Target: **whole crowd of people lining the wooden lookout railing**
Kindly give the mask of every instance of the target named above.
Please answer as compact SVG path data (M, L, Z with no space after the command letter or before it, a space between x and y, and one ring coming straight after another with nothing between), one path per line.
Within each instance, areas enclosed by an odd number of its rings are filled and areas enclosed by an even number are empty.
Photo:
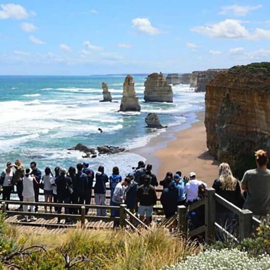
M216 193L235 204L239 208L249 209L257 218L264 218L270 214L270 170L267 168L268 155L263 150L255 153L257 168L244 173L242 184L233 176L228 163L219 165L219 176L213 183ZM193 202L204 197L206 183L196 178L195 172L190 172L189 177L182 177L181 171L174 174L166 173L165 178L158 182L152 173L152 165L138 162L134 170L121 177L118 167L113 167L112 174L105 173L104 166L99 166L98 171L89 168L88 162L77 164L75 167L55 167L54 173L49 167L45 168L44 175L37 168L36 162L30 163L30 168L24 168L22 161L14 164L7 162L6 169L0 175L2 199L10 200L10 194L16 187L20 201L38 202L39 189L44 189L45 202L64 204L90 204L92 189L96 205L106 204L106 184L110 189L110 205L120 206L122 203L147 225L150 224L153 215L153 206L157 203L156 187L163 187L160 197L166 218L174 216L177 206L189 206ZM242 189L241 189L242 187ZM244 192L242 192L244 190ZM8 204L6 205L8 210ZM78 214L80 209L64 208L65 214ZM22 211L22 206L19 207ZM27 206L24 206L24 212ZM30 211L38 211L38 206L31 207ZM45 207L45 212L48 209ZM50 207L49 212L61 213L62 207ZM86 208L86 214L88 209ZM97 216L106 216L106 209L97 209ZM111 216L119 216L119 211L111 210ZM189 213L192 228L204 224L204 206ZM216 204L216 220L233 231L235 215L227 208ZM26 220L27 216L26 216ZM35 220L32 216L30 220ZM60 222L60 218L58 218ZM71 222L66 219L65 222ZM114 226L118 226L117 221Z

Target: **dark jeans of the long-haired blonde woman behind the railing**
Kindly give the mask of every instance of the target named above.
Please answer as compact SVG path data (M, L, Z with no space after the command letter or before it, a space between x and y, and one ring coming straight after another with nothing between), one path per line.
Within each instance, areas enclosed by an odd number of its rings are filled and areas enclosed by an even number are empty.
M233 212L216 212L216 222L232 235L234 233L234 217ZM216 232L216 236L219 241L225 241L227 238L219 231Z

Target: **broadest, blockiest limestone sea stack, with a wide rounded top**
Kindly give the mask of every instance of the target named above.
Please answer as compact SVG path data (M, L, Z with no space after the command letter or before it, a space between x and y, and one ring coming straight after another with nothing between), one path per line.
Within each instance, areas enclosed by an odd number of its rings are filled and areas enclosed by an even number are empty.
M144 100L146 102L173 102L172 88L162 73L148 75L144 86Z

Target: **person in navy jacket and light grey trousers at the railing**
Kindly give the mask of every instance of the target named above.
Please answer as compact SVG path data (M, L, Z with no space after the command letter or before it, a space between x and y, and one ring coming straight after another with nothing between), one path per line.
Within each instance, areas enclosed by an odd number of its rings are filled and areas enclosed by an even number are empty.
M96 173L96 184L94 187L96 205L106 205L106 183L108 176L104 173L104 166L99 166ZM106 209L97 209L97 216L106 216Z

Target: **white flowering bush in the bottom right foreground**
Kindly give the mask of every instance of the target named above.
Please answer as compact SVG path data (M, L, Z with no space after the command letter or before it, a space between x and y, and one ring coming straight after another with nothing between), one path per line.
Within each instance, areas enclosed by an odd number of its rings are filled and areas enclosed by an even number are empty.
M270 270L269 254L257 258L238 249L206 250L189 256L185 262L166 266L163 270Z

